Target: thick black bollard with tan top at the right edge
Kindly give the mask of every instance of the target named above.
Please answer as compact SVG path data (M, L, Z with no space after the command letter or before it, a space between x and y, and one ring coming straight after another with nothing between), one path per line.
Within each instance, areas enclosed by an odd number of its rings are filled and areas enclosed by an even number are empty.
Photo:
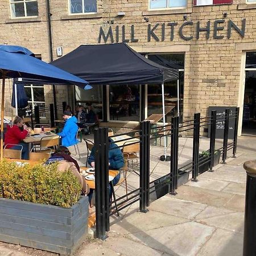
M243 256L256 255L256 161L243 164L247 173L245 196L245 225L243 232Z

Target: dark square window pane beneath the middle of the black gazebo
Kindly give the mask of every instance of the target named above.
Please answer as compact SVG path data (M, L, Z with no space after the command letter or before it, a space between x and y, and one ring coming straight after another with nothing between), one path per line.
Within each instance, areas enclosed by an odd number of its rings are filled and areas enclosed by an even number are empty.
M111 120L139 121L139 85L110 85Z

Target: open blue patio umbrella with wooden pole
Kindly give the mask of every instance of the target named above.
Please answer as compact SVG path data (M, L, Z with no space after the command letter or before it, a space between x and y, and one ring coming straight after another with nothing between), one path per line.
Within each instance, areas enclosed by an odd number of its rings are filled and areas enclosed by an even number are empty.
M49 84L71 84L84 89L92 88L88 82L73 76L62 69L36 59L27 48L20 46L0 45L0 79L2 79L1 104L1 143L0 154L3 159L3 113L5 108L5 79L26 77L30 79L43 79Z

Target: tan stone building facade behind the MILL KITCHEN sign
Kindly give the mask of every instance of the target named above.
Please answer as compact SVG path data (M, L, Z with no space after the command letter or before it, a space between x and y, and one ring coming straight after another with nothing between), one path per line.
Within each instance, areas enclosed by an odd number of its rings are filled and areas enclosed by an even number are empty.
M36 17L11 18L9 1L0 3L0 44L19 44L49 61L47 2L37 1ZM256 1L194 6L187 0L184 7L150 10L152 0L97 0L97 12L88 14L70 14L69 1L51 1L53 59L57 47L65 55L81 44L123 41L146 54L184 53L184 118L206 115L209 106L242 111L246 52L256 51ZM56 89L57 101L67 100L65 86ZM51 86L44 90L47 103L51 92Z

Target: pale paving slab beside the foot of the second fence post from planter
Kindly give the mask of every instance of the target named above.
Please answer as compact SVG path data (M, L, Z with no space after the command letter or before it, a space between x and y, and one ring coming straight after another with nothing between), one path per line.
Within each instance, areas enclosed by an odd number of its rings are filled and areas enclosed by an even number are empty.
M205 204L199 204L192 201L185 201L173 198L171 196L163 196L154 201L149 209L155 212L167 213L181 218L192 220L202 210L207 207Z

